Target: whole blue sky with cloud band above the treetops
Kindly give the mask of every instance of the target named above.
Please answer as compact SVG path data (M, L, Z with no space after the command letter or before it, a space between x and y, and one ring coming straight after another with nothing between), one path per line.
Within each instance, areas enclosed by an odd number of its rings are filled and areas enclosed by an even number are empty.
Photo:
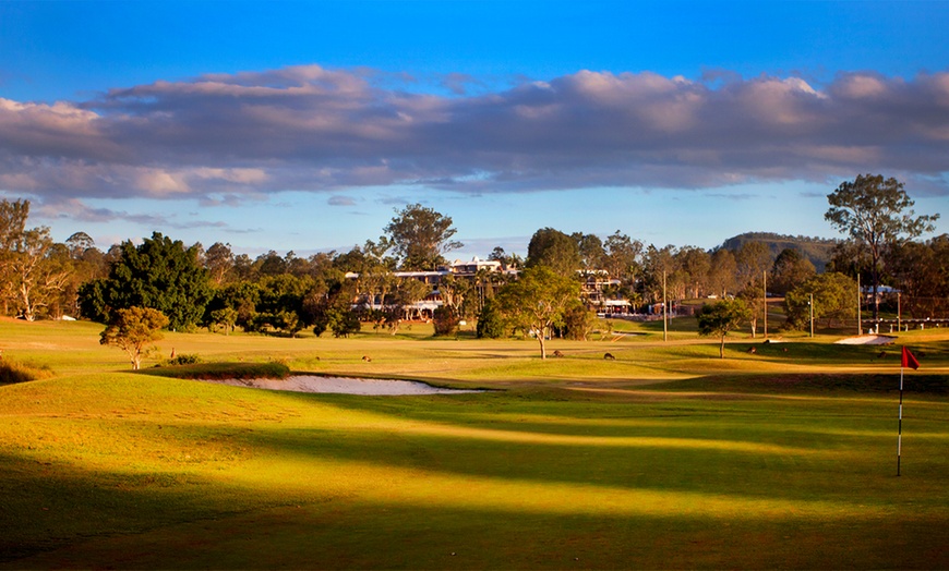
M949 215L946 29L937 0L0 0L0 198L103 250L345 252L410 204L449 258L839 238L861 173Z

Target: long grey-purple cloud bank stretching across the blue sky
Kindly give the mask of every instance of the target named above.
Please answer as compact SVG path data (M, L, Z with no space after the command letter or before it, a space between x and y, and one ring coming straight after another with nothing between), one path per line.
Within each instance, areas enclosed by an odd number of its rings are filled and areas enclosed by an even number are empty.
M389 184L459 193L713 189L882 172L949 195L949 73L692 81L580 71L467 95L305 65L116 88L52 105L0 98L0 190L56 204ZM86 212L88 215L88 212Z

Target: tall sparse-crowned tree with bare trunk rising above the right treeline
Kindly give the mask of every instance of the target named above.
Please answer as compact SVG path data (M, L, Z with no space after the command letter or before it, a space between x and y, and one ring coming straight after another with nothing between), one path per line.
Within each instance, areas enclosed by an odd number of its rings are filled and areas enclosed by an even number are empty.
M869 252L874 319L879 317L881 267L886 248L935 230L939 215L916 216L903 183L882 174L860 174L827 195L824 218Z

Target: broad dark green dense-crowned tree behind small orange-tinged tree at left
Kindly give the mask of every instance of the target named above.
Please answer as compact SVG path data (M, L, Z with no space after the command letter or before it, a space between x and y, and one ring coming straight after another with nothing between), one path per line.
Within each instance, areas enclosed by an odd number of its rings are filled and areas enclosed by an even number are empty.
M137 246L123 242L120 251L108 278L91 281L80 290L86 317L108 321L117 309L151 307L166 315L173 329L199 323L212 290L195 248L155 232Z

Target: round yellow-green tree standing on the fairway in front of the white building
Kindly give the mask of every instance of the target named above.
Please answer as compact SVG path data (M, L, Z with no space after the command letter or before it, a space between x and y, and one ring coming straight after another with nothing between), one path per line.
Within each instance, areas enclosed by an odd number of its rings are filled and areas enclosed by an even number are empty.
M580 294L580 284L546 266L527 268L497 292L495 303L508 323L536 336L546 359L546 335L563 325L564 313Z

